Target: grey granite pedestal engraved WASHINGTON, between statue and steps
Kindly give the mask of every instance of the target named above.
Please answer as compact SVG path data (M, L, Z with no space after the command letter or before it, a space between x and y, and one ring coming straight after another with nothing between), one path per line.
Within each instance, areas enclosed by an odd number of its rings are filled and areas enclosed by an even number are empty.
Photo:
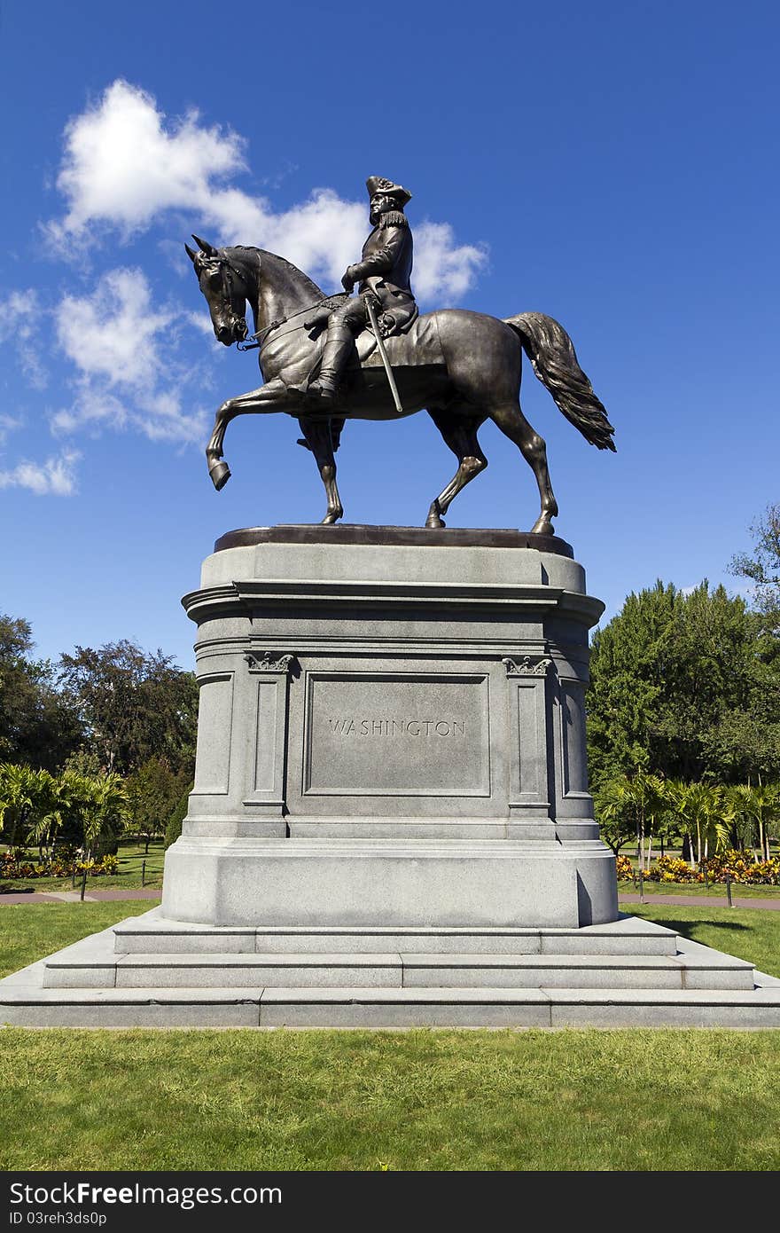
M217 543L184 604L201 700L169 920L616 919L585 764L604 605L563 540L249 529Z

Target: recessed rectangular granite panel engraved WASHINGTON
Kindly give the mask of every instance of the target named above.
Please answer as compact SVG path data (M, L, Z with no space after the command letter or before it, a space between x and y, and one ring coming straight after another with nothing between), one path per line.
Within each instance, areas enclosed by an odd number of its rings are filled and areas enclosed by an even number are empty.
M303 793L489 797L487 676L311 673Z

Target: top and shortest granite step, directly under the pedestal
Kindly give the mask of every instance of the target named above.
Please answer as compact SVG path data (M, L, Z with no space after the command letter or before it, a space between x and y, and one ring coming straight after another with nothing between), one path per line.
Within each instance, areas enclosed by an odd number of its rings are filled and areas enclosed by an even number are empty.
M168 921L160 909L115 926L117 954L676 954L676 933L624 917L584 928L219 927Z

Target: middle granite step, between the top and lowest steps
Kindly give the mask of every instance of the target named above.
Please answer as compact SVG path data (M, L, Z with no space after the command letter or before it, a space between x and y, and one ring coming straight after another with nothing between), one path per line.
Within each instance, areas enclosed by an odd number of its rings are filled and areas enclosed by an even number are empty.
M701 947L615 954L112 954L75 946L46 961L48 989L79 988L600 988L744 989L753 968Z

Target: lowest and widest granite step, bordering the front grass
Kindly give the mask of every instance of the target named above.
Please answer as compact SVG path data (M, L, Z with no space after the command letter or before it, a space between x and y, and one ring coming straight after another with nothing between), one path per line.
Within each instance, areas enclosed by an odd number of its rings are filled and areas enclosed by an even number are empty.
M39 967L39 965L33 965ZM21 1027L780 1028L780 981L697 989L42 989L0 981ZM27 977L28 983L20 983ZM16 980L16 984L12 981Z

